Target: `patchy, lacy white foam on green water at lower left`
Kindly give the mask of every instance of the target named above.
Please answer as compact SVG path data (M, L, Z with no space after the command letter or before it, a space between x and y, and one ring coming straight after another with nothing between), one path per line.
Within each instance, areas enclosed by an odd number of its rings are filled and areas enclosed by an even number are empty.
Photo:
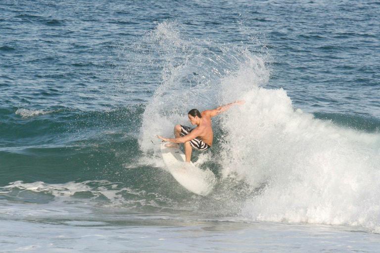
M161 202L176 207L177 203L155 192L135 190L122 183L107 180L84 182L67 182L62 184L48 184L45 182L24 183L15 181L7 186L0 187L0 195L21 202L13 203L0 208L1 215L10 216L50 216L71 215L88 212L87 208L75 208L74 205L103 206L117 208L140 208L144 206L160 207ZM31 198L30 198L31 196ZM48 196L51 196L47 198ZM153 198L154 197L154 198ZM46 202L44 208L30 208L26 202ZM65 208L61 208L62 204ZM73 205L67 205L73 204ZM59 206L58 208L56 206Z

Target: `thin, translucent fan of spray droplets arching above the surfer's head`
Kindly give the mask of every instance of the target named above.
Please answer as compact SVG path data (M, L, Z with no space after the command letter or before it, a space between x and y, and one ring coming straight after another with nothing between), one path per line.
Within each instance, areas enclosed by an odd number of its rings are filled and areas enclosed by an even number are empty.
M269 79L263 55L254 55L236 45L186 40L173 22L160 23L145 40L165 60L161 62L162 83L143 113L139 144L144 152L158 152L151 145L156 135L172 136L176 124L189 125L187 112L190 109L212 109L221 105L220 82L239 66L246 62L259 65L265 69L265 74L259 77L262 83Z

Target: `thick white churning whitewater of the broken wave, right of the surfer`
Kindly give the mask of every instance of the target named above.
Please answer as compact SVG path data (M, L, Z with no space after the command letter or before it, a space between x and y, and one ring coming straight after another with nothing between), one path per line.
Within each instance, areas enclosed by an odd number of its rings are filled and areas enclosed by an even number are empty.
M222 81L222 98L232 94L246 100L222 115L227 131L223 174L252 186L268 184L263 194L249 198L243 214L254 220L379 230L380 135L294 110L284 90L249 89L244 80L252 75L238 73Z

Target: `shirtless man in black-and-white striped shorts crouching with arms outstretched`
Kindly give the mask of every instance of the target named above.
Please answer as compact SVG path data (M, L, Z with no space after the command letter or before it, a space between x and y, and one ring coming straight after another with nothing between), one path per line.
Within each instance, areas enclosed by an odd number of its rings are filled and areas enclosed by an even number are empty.
M234 104L243 104L245 101L235 101L213 110L204 110L199 112L197 109L191 109L188 113L191 125L196 125L194 129L188 126L176 125L174 127L174 135L176 138L164 138L157 135L158 138L165 142L172 142L174 144L167 144L169 147L178 147L178 143L185 144L186 162L190 162L192 149L198 151L206 151L212 146L214 133L212 132L211 118L228 110Z

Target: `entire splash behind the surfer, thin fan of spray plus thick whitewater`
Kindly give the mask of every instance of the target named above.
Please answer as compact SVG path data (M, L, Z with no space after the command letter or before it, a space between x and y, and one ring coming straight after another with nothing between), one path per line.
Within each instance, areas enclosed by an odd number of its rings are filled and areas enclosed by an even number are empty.
M266 88L268 54L187 41L175 27L162 23L151 33L166 62L163 82L143 113L142 151L159 155L151 140L171 136L175 124L189 125L191 108L244 99L216 119L212 155L199 155L216 164L222 185L233 180L228 187L240 186L240 193L231 193L243 194L243 217L380 229L377 127L363 131L303 112L285 90Z

